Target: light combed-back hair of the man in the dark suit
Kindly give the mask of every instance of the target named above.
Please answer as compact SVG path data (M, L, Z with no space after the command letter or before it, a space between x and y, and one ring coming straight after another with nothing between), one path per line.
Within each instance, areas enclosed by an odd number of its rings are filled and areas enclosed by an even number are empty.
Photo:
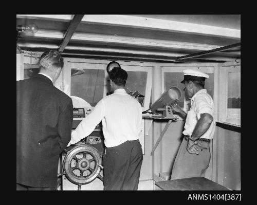
M63 58L57 50L45 51L38 62L39 69L53 70L63 67Z

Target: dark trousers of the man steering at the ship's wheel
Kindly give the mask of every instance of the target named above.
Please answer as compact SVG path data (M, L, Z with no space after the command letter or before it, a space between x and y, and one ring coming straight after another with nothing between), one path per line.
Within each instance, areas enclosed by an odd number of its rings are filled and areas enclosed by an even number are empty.
M103 155L104 190L137 190L142 161L139 140L106 148Z

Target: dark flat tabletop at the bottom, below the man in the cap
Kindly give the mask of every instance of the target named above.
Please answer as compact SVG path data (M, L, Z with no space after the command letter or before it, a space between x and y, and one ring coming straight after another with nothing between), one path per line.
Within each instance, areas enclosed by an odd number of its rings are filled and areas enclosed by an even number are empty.
M229 190L228 188L223 187L222 185L215 183L205 177L192 177L169 181L159 181L155 182L155 184L161 190Z

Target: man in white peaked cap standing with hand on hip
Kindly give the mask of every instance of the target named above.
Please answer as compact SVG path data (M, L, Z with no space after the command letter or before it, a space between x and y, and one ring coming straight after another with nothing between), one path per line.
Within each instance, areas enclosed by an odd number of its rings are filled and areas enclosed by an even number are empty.
M208 74L199 70L183 70L191 107L188 113L178 105L172 105L175 113L186 120L184 138L173 164L171 180L204 176L210 163L210 140L214 135L214 104L204 88Z

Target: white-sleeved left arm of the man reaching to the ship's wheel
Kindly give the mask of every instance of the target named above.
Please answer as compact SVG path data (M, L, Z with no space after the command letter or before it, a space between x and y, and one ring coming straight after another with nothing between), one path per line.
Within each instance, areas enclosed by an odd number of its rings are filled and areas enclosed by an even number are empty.
M90 135L95 127L101 122L104 115L104 105L103 101L99 101L93 111L82 120L74 132L71 133L71 140L68 144L75 144L81 139Z

